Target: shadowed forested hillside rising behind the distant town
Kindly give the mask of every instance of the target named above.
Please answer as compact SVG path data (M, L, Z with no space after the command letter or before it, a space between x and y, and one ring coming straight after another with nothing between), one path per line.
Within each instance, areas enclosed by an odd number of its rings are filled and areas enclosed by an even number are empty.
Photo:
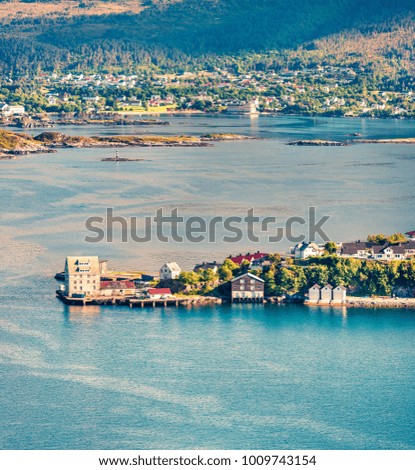
M402 44L389 47L390 31L405 24L412 36L402 38L403 46L413 44L414 22L407 19L413 11L410 0L3 1L0 66L25 72L186 65L298 47L293 57L301 60L304 50L311 60L337 50L359 60L366 44L375 60L376 54L399 60ZM365 43L374 35L376 47ZM405 54L410 61L412 52Z

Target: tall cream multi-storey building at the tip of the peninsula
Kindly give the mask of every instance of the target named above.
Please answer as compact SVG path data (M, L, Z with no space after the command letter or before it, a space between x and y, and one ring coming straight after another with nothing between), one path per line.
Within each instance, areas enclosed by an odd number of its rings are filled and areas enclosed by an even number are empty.
M96 295L101 273L98 256L68 256L65 262L65 294L68 297Z

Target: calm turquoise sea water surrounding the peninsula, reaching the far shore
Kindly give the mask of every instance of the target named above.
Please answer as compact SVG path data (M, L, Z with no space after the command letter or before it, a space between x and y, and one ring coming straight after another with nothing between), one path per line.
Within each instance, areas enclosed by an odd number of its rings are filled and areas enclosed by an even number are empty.
M330 213L332 238L415 223L412 146L288 147L299 138L413 136L413 124L175 117L147 133L240 132L212 148L65 150L0 162L0 448L407 449L415 445L415 313L234 305L67 307L53 279L67 254L115 267L190 269L252 246L88 245L85 218ZM140 129L141 130L141 129ZM70 128L72 134L132 129ZM126 164L127 165L127 164ZM276 249L284 250L289 243ZM273 247L275 248L275 247Z

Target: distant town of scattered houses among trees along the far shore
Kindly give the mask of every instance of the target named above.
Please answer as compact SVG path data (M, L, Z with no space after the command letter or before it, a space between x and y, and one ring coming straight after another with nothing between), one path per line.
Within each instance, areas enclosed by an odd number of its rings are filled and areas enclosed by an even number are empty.
M415 94L411 89L370 88L365 83L363 66L334 65L241 73L219 67L180 73L39 73L3 78L0 103L1 124L22 127L33 127L27 118L39 118L43 113L415 116Z

